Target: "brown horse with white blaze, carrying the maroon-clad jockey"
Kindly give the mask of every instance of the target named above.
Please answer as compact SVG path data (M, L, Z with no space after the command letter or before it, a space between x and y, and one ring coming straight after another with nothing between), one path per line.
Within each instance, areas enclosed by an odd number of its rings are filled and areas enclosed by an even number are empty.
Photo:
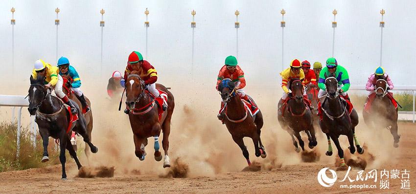
M144 81L140 78L138 72L132 71L126 80L126 105L130 110L129 119L133 130L133 139L136 146L136 156L139 160L144 160L146 152L144 147L147 145L147 138L155 139L155 160L161 161L162 154L159 151L159 135L163 131L162 147L164 151L163 168L170 167L168 156L170 120L172 118L175 101L173 95L167 88L161 84L156 84L156 88L167 94L167 110L163 111L159 119L158 111L162 111L155 101L155 97L145 89Z

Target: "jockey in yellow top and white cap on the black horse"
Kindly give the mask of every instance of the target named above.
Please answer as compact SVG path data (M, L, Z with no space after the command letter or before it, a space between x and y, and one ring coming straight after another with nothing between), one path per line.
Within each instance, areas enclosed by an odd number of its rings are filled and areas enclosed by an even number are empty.
M58 67L52 66L39 59L35 62L34 68L32 70L33 79L36 79L38 75L45 77L45 81L47 83L45 86L47 88L54 89L55 94L71 108L71 112L74 114L71 122L78 120L77 110L75 106L71 103L68 96L65 95L65 93L62 91L64 80L62 79L61 75L59 75Z

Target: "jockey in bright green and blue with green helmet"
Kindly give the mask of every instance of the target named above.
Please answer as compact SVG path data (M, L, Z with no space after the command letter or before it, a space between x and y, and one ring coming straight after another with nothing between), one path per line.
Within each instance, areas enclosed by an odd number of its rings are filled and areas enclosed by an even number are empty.
M325 76L329 76L329 74L331 73L335 74L335 78L338 81L338 88L340 89L341 96L343 96L344 99L347 99L349 101L347 91L349 89L350 84L347 69L345 69L341 65L338 65L337 60L333 57L328 58L326 60L326 67L324 67L321 73L319 74L318 86L320 90L318 93L318 98L321 98L322 96L326 95Z

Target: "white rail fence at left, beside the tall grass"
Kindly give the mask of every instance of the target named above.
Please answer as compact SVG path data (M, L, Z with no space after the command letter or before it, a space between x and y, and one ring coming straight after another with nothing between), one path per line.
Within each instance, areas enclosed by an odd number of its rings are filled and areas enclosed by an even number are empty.
M15 122L15 108L18 109L17 115L17 146L16 146L16 156L19 157L20 152L20 137L22 132L22 108L29 107L29 101L24 99L25 96L14 96L14 95L0 95L0 107L13 107L12 121ZM35 116L30 117L31 120L31 140L33 147L36 147L36 134L37 134L37 125L35 123Z

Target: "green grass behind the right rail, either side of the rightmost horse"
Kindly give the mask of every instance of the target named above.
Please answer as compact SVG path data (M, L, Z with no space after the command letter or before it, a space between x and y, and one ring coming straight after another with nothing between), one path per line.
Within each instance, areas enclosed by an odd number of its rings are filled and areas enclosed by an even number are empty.
M399 107L399 111L413 111L413 93L412 92L402 92L394 93L394 99L403 107ZM354 105L354 108L363 109L364 103L366 102L367 95L351 94L351 102Z

